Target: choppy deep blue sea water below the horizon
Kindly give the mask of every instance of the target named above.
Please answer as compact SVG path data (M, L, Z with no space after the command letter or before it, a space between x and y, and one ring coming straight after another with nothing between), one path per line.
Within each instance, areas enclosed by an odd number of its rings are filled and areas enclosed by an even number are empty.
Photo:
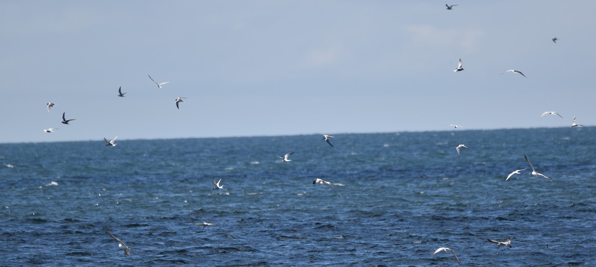
M0 144L0 265L596 266L596 128L334 136Z

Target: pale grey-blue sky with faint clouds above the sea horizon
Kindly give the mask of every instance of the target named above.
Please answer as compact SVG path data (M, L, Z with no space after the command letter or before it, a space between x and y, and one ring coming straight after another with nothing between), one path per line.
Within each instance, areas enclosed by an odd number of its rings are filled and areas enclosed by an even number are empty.
M445 4L0 1L0 142L596 125L596 1Z

